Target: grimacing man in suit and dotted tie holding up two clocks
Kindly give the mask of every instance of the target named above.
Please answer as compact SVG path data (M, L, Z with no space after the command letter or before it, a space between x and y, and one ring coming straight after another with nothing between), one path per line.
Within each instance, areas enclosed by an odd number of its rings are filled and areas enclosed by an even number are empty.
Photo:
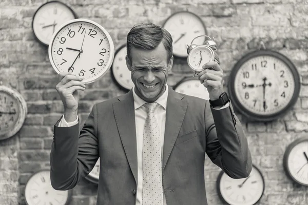
M126 56L134 87L95 104L80 132L78 92L85 85L79 76L61 73L56 90L65 112L54 126L54 189L74 188L99 157L100 205L207 204L205 154L228 176L248 177L251 153L223 94L219 64L208 62L199 73L210 97L204 100L166 84L172 63L172 38L165 29L151 23L134 26L127 35Z

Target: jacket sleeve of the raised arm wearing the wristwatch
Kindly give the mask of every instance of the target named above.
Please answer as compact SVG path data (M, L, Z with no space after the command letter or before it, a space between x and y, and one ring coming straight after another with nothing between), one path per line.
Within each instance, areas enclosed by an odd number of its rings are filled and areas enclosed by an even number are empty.
M252 156L232 104L216 110L205 104L206 154L231 178L248 177Z

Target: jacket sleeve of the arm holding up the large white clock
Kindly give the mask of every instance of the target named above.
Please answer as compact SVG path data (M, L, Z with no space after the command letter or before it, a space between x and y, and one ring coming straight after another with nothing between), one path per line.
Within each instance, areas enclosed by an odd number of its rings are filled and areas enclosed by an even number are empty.
M97 105L80 132L79 122L71 127L57 124L50 153L50 181L55 190L69 190L90 173L99 158Z

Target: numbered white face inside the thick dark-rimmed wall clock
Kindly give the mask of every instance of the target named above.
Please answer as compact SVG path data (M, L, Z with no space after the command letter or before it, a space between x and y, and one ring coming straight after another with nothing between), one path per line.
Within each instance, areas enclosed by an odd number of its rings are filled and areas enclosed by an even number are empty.
M235 76L235 94L242 106L256 114L281 111L290 102L295 81L279 58L269 55L247 60Z

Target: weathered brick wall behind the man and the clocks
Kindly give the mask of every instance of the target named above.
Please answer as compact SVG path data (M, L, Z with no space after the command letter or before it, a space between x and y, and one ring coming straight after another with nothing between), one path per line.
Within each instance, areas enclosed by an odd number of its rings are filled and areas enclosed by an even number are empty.
M31 30L32 16L45 2L0 2L0 81L21 92L28 106L20 132L0 141L0 204L25 204L24 189L29 176L39 169L49 168L53 124L63 113L48 50L34 40ZM79 17L104 26L115 47L125 43L128 31L136 23L162 25L176 11L195 12L203 19L208 35L216 37L221 66L226 74L225 83L236 61L257 49L260 39L266 48L287 55L301 75L302 87L295 107L283 118L267 123L248 123L238 116L247 134L253 163L265 177L266 189L259 204L308 204L308 189L288 179L282 167L286 146L306 136L308 131L306 0L70 0L65 3ZM183 74L190 75L191 71L186 60L177 59L168 79L169 85L175 85ZM82 124L94 103L120 94L124 92L114 84L110 72L87 85L80 100ZM205 170L208 202L222 204L216 192L220 169L207 158ZM70 204L96 204L96 194L97 185L83 180L73 189Z

